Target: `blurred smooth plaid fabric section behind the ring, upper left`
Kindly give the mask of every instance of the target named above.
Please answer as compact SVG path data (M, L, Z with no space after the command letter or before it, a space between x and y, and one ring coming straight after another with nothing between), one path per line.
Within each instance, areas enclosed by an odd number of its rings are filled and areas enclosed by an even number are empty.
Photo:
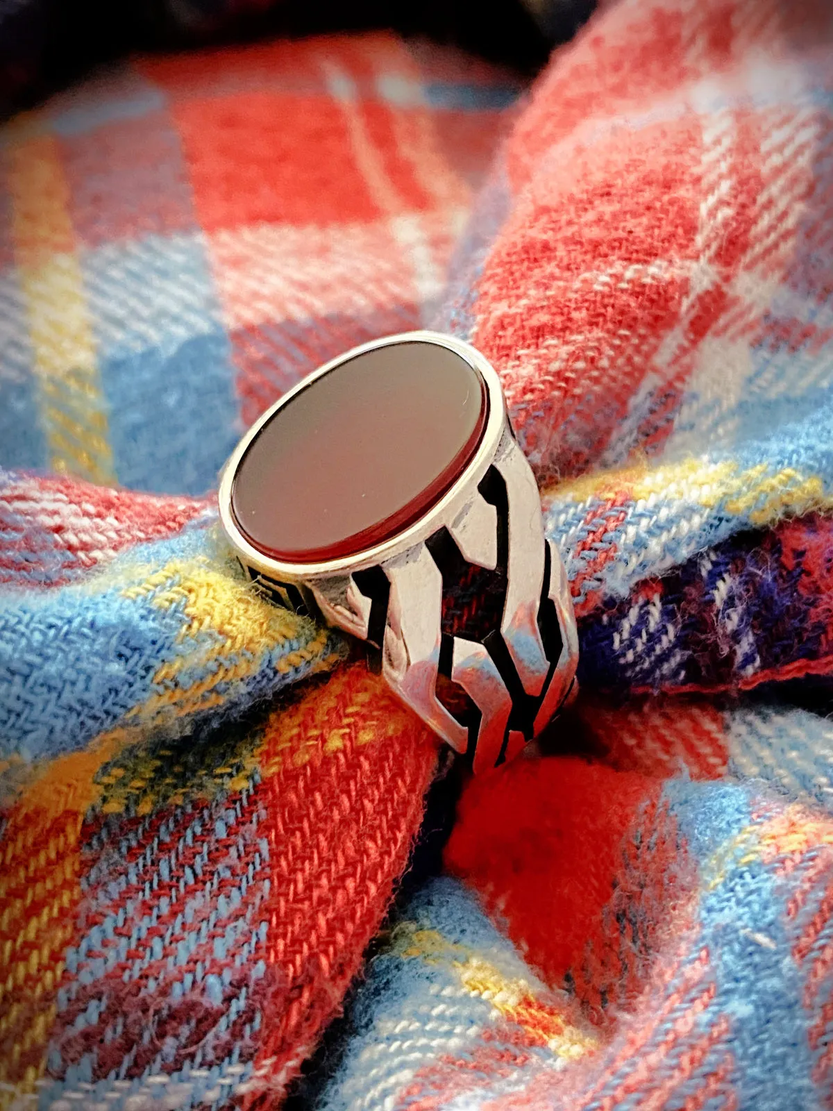
M20 117L0 463L210 490L291 384L425 322L520 90L379 32L145 56Z

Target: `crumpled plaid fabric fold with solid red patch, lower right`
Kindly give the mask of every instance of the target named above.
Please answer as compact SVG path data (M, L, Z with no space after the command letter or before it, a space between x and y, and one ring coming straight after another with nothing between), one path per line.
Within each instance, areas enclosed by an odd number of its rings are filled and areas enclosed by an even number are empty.
M594 763L519 760L468 791L458 879L371 963L322 1107L829 1105L829 722L680 702L582 721Z

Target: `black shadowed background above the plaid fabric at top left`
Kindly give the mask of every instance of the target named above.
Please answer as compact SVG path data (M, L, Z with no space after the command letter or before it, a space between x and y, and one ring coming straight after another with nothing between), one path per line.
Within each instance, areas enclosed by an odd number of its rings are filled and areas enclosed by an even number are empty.
M8 0L0 7L0 112L27 107L132 51L270 36L391 30L429 36L532 72L570 39L593 0Z

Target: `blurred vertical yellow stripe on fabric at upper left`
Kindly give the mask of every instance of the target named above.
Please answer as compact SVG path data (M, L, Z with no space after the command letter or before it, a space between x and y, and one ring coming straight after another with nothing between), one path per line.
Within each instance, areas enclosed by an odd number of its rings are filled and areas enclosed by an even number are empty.
M11 230L51 467L112 483L112 451L60 149L12 124Z

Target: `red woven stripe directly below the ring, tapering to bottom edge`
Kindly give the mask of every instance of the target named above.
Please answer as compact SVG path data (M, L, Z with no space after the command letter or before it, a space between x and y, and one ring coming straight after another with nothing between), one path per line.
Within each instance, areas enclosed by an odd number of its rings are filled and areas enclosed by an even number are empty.
M259 762L268 974L280 990L242 1108L275 1101L339 1009L422 819L436 744L383 681L343 668L273 714ZM270 1104L271 1105L271 1104Z

